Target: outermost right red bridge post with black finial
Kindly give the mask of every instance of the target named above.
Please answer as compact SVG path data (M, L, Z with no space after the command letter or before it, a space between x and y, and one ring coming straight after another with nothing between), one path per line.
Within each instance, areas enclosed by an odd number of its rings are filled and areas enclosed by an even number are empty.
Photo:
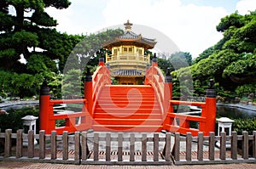
M205 116L207 122L205 124L204 135L209 135L209 132L215 132L215 121L216 121L216 91L214 89L214 82L211 79L209 82L209 88L207 89L206 98L206 111L201 114Z

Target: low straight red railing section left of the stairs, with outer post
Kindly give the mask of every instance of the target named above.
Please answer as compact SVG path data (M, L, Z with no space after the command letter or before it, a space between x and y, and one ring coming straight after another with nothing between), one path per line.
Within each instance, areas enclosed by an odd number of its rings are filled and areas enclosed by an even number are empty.
M61 114L55 114L55 104L83 104L83 108L80 112L68 113L65 110L60 110ZM88 129L89 125L86 123L86 117L89 115L87 112L86 99L50 100L49 87L44 85L41 88L39 99L39 125L40 129L45 130L45 133L49 134L51 131L55 130L58 134L61 134L63 131L76 132L78 130ZM55 124L57 120L64 120L64 126L56 127Z

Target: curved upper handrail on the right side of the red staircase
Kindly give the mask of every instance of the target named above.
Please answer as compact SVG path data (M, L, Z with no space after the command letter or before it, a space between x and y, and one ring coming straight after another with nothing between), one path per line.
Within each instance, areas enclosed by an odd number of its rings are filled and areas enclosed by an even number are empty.
M154 91L159 101L162 115L164 115L165 113L164 82L165 82L165 77L163 76L160 68L158 68L157 66L151 66L146 71L145 84L150 84L152 87L154 87Z

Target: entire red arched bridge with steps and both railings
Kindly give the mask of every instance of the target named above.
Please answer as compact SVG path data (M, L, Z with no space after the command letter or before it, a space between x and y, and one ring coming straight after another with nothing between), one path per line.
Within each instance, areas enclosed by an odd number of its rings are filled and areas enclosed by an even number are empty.
M215 91L207 89L206 102L172 100L172 76L163 76L157 63L146 71L144 85L112 85L110 72L100 61L93 75L87 73L84 99L50 100L49 87L40 92L40 130L76 132L93 129L108 132L191 132L208 135L215 130ZM80 112L55 114L55 104L83 104ZM174 105L201 107L201 115L175 113ZM65 111L64 111L65 112ZM64 127L55 127L55 121L65 119ZM78 121L79 119L79 121ZM190 127L190 121L198 123Z

